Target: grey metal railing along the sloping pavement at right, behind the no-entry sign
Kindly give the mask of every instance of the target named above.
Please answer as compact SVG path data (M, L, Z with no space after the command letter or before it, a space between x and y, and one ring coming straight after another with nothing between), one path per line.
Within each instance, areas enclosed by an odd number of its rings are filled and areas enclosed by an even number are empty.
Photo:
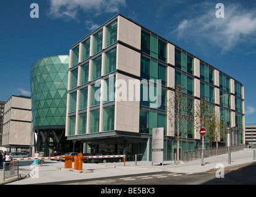
M238 145L234 147L229 147L231 152L243 150L245 145ZM205 148L203 151L203 156L205 158L209 156L216 156L228 153L228 147L218 147L218 148ZM186 150L183 151L183 161L192 161L195 159L200 159L202 157L202 149L199 150Z

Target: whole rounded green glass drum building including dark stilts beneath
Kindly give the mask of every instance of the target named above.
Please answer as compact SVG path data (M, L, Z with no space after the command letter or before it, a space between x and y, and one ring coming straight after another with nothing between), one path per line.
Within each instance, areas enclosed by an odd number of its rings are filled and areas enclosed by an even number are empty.
M68 70L68 55L41 58L31 68L35 149L46 156L73 147L65 137Z

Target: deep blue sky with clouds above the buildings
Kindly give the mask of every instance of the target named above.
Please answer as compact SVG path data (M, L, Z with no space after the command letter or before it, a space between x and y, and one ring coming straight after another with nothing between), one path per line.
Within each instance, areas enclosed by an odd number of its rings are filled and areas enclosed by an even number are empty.
M39 6L31 18L30 5ZM216 18L217 3L224 18ZM191 0L0 0L0 100L30 95L36 60L69 49L120 13L215 66L245 87L245 123L256 124L256 2Z

